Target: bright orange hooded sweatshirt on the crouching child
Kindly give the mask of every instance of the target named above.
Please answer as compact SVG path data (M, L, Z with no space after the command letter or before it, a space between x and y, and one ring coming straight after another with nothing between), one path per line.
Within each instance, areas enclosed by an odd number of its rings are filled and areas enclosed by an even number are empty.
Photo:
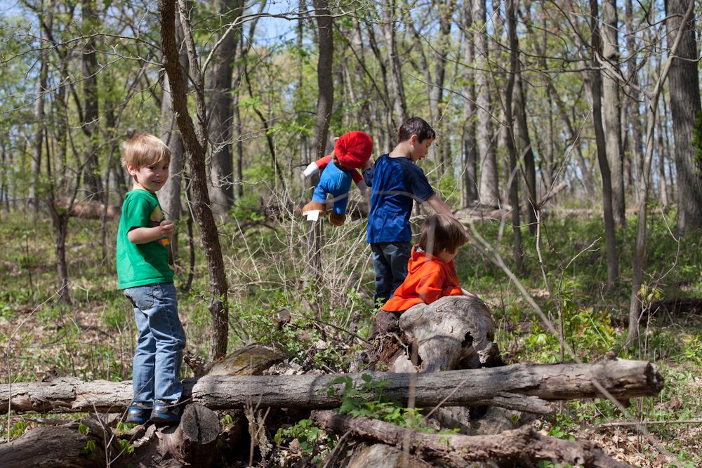
M419 246L412 247L407 272L407 277L390 300L380 307L381 310L404 312L421 302L431 304L439 297L463 294L461 286L458 286L458 274L453 260L446 263L421 250Z

